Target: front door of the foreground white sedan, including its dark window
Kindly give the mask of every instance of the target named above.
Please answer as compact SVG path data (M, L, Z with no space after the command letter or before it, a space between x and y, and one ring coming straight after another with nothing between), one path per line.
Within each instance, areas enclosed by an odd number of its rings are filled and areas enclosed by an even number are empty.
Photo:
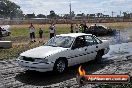
M69 53L70 64L76 65L85 62L85 40L84 36L79 36L75 39Z

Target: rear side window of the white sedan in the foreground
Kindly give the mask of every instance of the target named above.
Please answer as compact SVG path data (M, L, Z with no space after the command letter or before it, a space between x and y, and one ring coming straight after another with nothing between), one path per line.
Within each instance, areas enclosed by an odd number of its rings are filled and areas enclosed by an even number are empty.
M85 36L85 46L97 45L98 42L92 36Z

